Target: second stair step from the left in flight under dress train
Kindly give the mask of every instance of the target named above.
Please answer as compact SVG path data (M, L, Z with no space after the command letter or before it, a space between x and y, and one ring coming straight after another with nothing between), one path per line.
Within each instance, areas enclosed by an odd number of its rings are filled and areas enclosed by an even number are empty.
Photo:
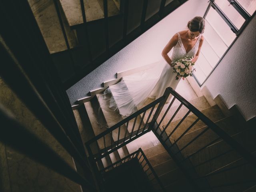
M90 119L90 123L95 136L104 132L105 130L108 130L108 127L106 126L106 120L104 119L102 111L100 110L97 98L92 98L89 102L84 103L84 106L86 108L86 112ZM104 138L100 138L99 140L97 140L99 148L103 149L105 148L105 146L110 146L111 139L112 138L110 134L108 134L105 136L105 144Z

